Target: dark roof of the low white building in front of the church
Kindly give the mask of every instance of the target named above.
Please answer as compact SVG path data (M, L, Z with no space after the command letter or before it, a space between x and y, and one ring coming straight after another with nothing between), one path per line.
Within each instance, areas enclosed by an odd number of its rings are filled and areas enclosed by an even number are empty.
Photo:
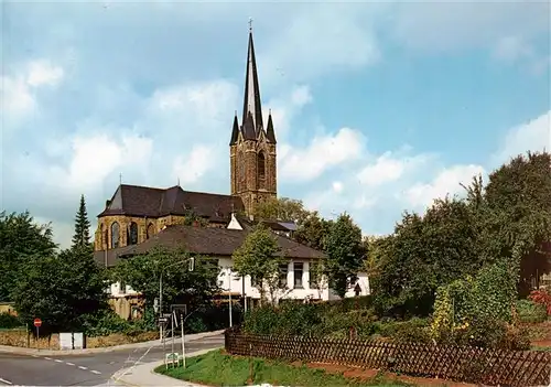
M114 266L120 258L148 252L156 246L165 248L184 247L192 254L206 256L231 256L235 249L242 245L250 230L227 229L215 227L169 226L150 239L132 246L119 247L107 251L107 266ZM290 238L273 234L281 248L281 254L289 258L316 259L323 258L322 251ZM94 258L99 265L105 265L106 252L96 251Z

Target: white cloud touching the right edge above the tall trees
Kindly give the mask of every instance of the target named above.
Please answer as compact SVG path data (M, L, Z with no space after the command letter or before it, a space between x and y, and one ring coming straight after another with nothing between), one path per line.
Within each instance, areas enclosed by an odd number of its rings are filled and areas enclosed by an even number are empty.
M494 154L495 164L528 151L551 150L551 110L521 126L509 129L499 150Z

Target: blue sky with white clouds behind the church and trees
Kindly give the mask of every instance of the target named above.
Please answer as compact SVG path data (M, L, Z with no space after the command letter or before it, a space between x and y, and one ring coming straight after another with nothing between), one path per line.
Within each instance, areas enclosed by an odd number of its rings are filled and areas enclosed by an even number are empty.
M365 235L551 149L545 1L4 1L1 209L68 246L126 184L229 194L248 21L278 195ZM266 121L266 118L264 118Z

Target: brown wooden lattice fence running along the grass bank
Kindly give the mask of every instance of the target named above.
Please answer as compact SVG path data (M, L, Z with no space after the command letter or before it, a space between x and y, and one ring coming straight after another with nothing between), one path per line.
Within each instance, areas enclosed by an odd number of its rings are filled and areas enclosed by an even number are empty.
M364 340L250 335L227 330L234 355L333 363L490 386L548 386L551 354Z

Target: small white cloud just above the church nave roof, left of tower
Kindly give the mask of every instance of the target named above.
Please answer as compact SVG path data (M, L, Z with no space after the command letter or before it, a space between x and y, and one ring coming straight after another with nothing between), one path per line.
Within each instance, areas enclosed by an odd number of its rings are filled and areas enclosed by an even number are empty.
M214 152L207 146L194 146L190 155L184 159L176 157L172 173L182 184L193 184L205 176L205 173L216 166Z

